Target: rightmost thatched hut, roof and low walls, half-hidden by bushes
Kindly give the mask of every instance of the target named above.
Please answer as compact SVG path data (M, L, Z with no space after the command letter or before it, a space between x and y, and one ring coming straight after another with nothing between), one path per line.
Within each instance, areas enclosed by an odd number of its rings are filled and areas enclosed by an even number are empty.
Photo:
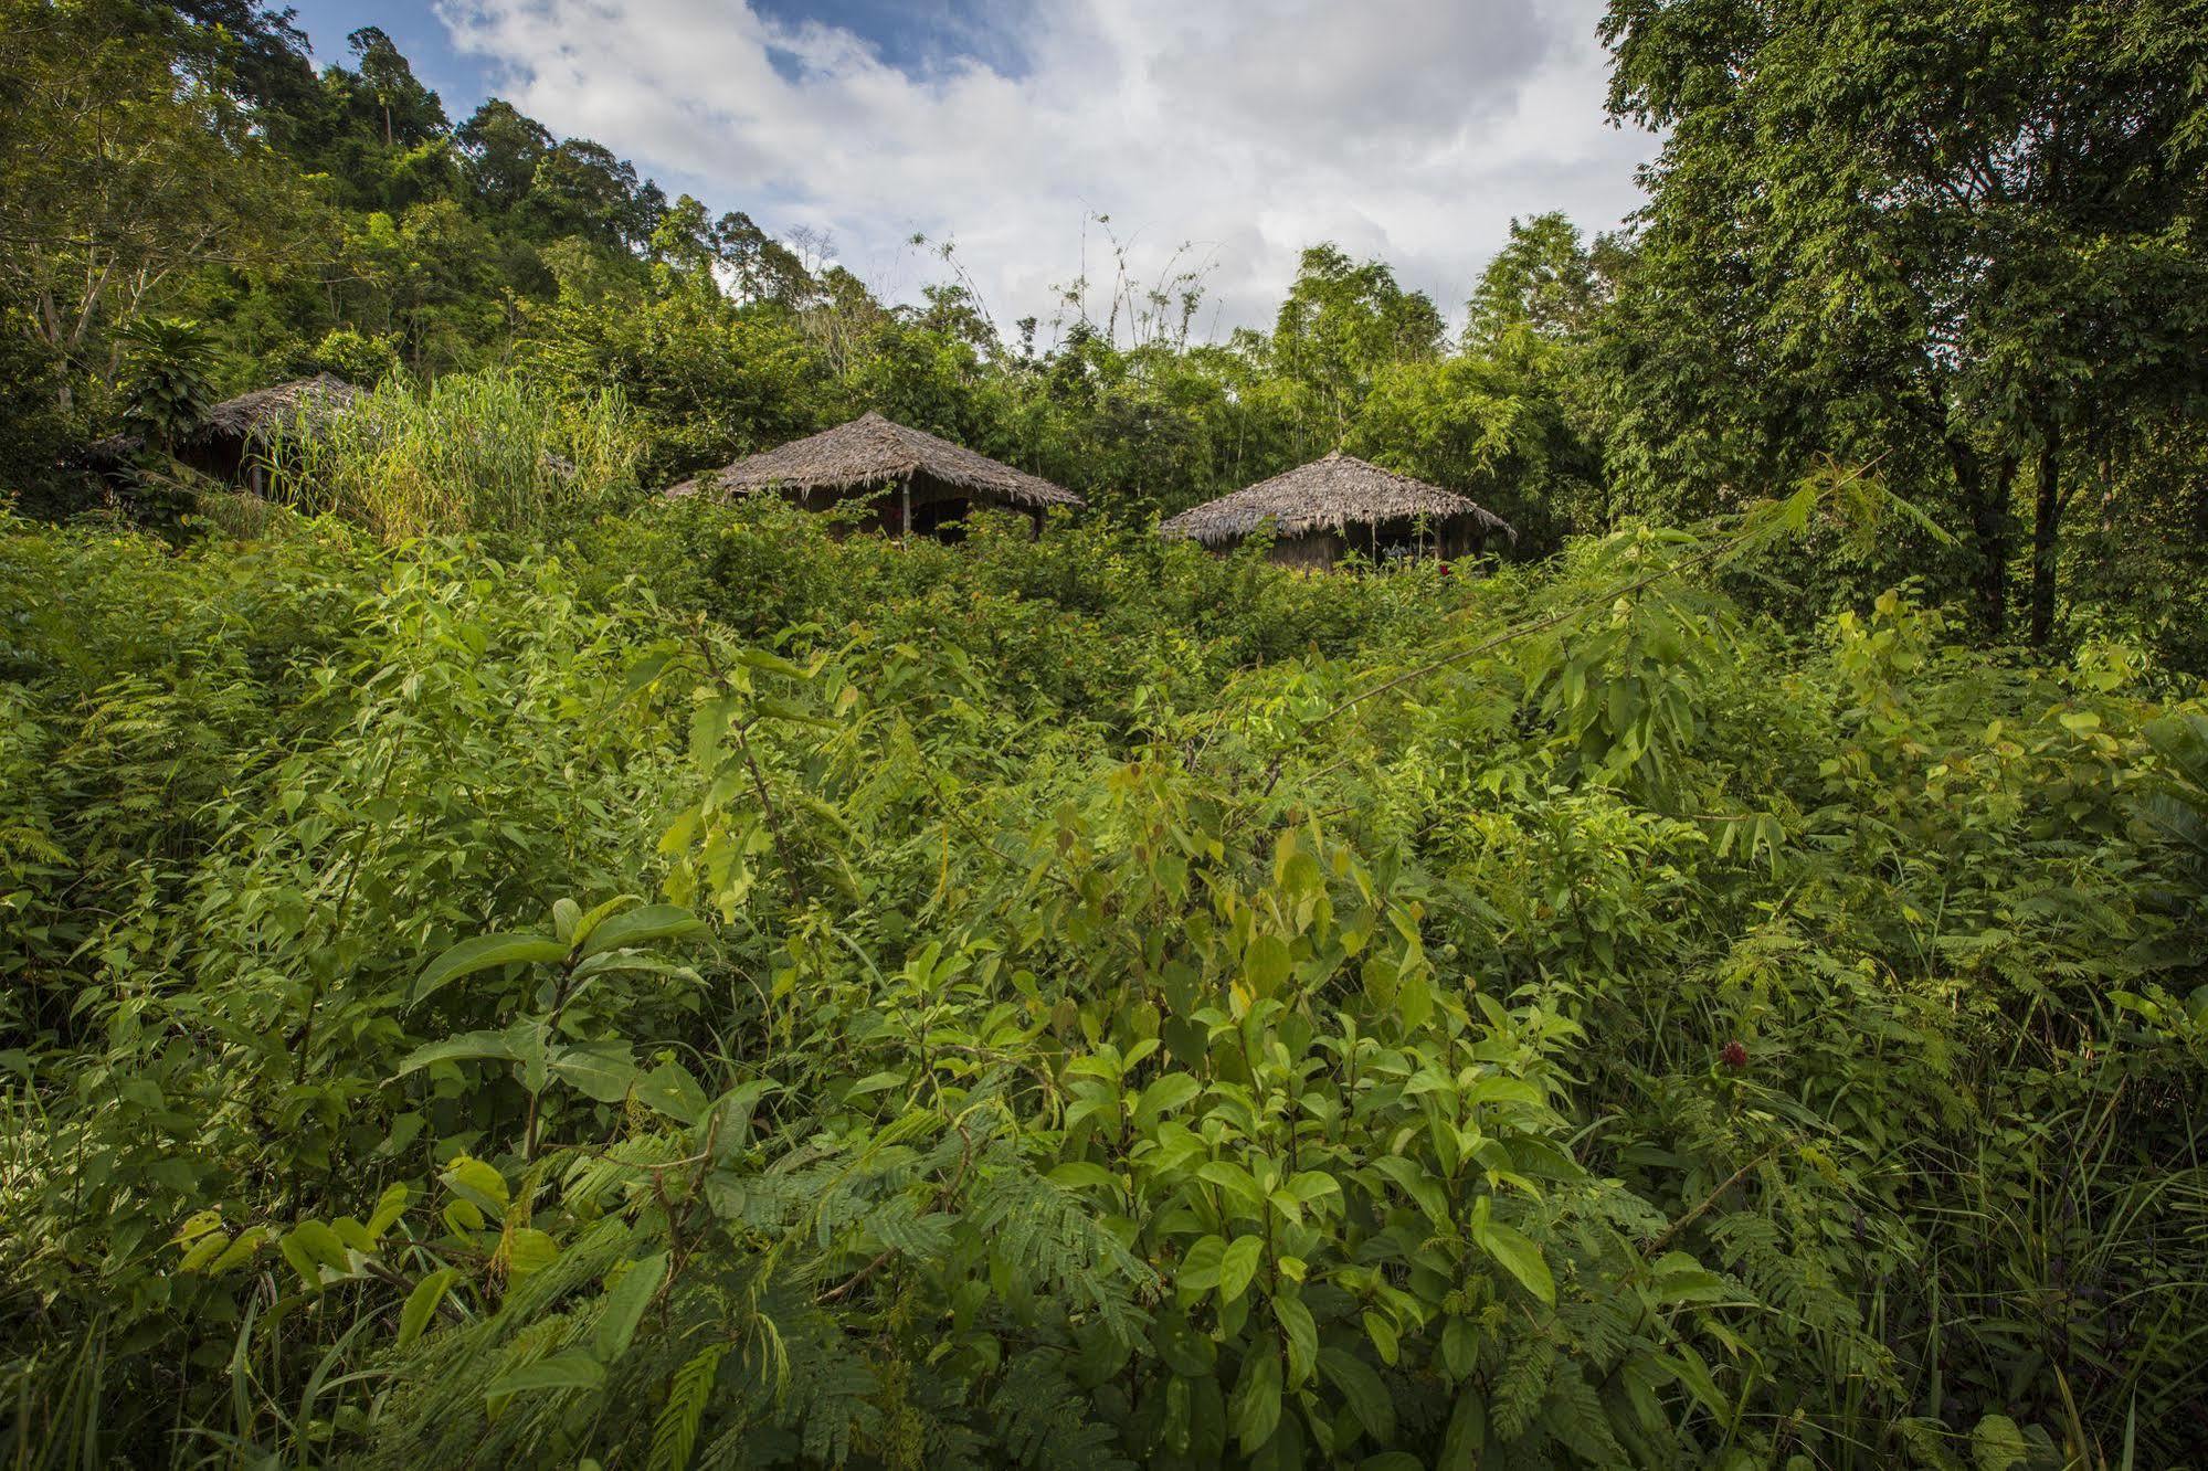
M1517 541L1508 521L1455 490L1382 470L1334 451L1325 459L1183 510L1161 537L1228 548L1272 526L1272 561L1327 568L1347 552L1462 557L1495 539Z

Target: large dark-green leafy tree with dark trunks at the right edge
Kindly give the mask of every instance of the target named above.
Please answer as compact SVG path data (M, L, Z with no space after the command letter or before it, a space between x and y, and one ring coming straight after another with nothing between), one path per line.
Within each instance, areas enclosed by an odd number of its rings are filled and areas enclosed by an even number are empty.
M1621 318L1678 334L1625 353L1638 462L1883 457L1952 497L1994 636L2029 481L2045 641L2080 473L2201 395L2208 9L1614 0L1603 35L1612 110L1667 135Z

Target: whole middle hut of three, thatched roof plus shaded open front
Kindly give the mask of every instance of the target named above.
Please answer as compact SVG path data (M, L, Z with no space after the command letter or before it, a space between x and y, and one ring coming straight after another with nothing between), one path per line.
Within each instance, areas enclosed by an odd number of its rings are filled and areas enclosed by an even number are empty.
M974 506L1025 510L1036 528L1051 506L1082 506L1082 497L1009 464L976 455L919 428L863 413L779 448L707 470L671 486L667 495L757 495L779 493L808 510L874 493L872 530L956 539L958 523ZM896 490L896 495L888 495Z

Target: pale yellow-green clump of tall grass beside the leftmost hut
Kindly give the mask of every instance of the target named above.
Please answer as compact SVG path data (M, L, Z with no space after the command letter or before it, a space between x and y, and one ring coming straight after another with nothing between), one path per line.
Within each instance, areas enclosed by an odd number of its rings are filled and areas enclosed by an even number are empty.
M283 424L267 457L276 499L386 541L541 535L636 488L636 433L618 391L561 402L510 371L384 384L349 413Z

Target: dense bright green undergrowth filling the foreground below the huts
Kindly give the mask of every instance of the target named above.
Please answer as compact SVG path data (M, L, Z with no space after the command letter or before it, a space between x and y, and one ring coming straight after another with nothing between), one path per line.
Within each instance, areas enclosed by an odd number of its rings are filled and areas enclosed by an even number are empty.
M1833 515L0 523L9 1464L2177 1464L2208 711Z

